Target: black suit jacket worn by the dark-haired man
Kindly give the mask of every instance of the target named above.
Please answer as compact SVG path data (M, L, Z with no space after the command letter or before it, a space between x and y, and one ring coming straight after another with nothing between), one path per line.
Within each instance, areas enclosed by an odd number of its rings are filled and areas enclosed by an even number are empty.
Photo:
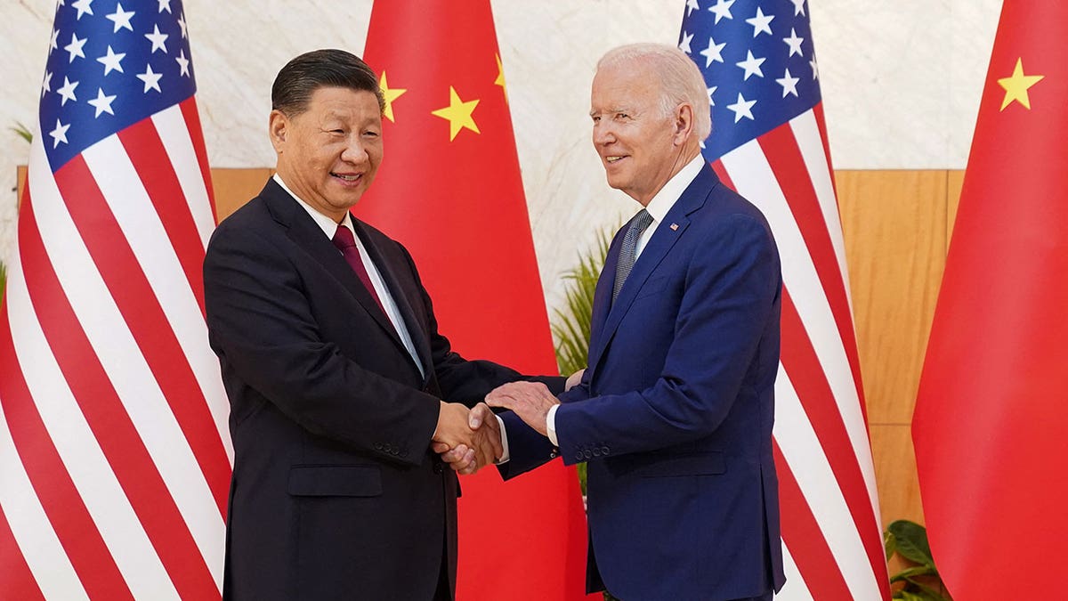
M276 182L208 245L208 333L234 442L226 598L430 599L443 563L455 586L456 476L429 450L438 399L470 405L520 375L452 352L408 251L354 224L425 377Z

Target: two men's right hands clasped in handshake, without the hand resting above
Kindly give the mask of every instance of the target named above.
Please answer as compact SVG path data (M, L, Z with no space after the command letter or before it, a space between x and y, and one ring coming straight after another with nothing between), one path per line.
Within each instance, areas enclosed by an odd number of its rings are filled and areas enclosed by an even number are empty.
M468 410L460 403L442 402L431 448L465 475L474 474L504 454L500 423L486 403Z

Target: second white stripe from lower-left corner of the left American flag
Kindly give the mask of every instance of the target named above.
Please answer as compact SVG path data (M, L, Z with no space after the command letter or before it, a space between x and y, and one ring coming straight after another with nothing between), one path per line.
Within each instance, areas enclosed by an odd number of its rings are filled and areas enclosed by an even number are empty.
M138 599L177 599L177 591L56 363L23 279L7 282L6 302L12 314L22 315L11 322L11 329L30 396L123 580Z

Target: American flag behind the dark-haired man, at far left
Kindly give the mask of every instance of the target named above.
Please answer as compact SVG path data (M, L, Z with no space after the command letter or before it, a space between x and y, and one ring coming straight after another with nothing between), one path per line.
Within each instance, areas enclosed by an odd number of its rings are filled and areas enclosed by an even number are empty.
M0 307L0 597L210 599L233 450L180 0L60 0Z

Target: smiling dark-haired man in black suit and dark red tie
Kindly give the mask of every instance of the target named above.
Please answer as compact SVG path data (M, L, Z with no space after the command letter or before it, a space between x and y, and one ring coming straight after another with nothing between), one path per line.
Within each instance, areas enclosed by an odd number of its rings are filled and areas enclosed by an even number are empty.
M429 446L501 457L468 406L520 374L452 352L411 256L349 214L382 160L374 72L317 50L271 96L277 173L204 261L234 442L223 596L452 599L456 475Z

